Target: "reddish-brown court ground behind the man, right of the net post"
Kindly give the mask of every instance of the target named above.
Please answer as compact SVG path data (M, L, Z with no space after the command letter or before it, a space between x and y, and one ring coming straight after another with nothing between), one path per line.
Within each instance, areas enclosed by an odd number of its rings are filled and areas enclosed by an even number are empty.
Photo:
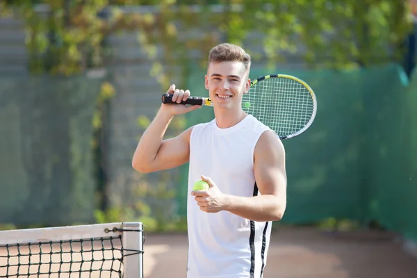
M148 234L145 278L186 277L187 247L186 234ZM263 277L411 278L417 277L417 257L389 233L284 227L271 235Z

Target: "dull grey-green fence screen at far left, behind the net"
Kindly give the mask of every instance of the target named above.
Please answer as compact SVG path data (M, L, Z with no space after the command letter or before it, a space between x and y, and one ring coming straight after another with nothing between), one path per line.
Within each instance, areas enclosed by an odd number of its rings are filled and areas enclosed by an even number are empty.
M97 80L1 76L0 224L91 222Z

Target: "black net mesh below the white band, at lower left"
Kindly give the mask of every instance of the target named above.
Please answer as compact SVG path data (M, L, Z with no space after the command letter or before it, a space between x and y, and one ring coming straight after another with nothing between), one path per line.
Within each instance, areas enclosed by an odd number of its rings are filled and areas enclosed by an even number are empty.
M122 277L122 237L0 245L0 278Z

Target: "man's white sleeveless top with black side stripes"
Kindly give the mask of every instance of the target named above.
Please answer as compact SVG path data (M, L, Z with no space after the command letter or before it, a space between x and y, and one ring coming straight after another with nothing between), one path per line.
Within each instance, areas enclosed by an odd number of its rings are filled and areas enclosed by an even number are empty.
M247 115L220 129L215 120L193 127L188 172L187 278L262 277L271 222L254 222L228 211L206 213L190 195L201 175L229 195L259 195L254 178L254 148L265 126Z

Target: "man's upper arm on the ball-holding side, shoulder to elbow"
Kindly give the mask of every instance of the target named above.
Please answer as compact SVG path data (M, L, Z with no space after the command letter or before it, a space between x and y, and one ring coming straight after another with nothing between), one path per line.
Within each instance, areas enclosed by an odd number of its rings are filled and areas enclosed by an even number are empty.
M261 195L286 199L285 150L279 137L265 131L256 144L254 174Z

